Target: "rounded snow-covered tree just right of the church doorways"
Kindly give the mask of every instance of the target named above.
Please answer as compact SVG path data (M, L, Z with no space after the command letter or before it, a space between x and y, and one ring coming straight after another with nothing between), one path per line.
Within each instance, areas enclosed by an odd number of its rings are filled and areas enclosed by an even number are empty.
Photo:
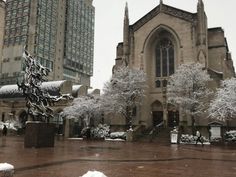
M210 76L199 63L182 64L167 85L168 102L189 112L192 126L195 118L206 111L211 91L207 88Z

